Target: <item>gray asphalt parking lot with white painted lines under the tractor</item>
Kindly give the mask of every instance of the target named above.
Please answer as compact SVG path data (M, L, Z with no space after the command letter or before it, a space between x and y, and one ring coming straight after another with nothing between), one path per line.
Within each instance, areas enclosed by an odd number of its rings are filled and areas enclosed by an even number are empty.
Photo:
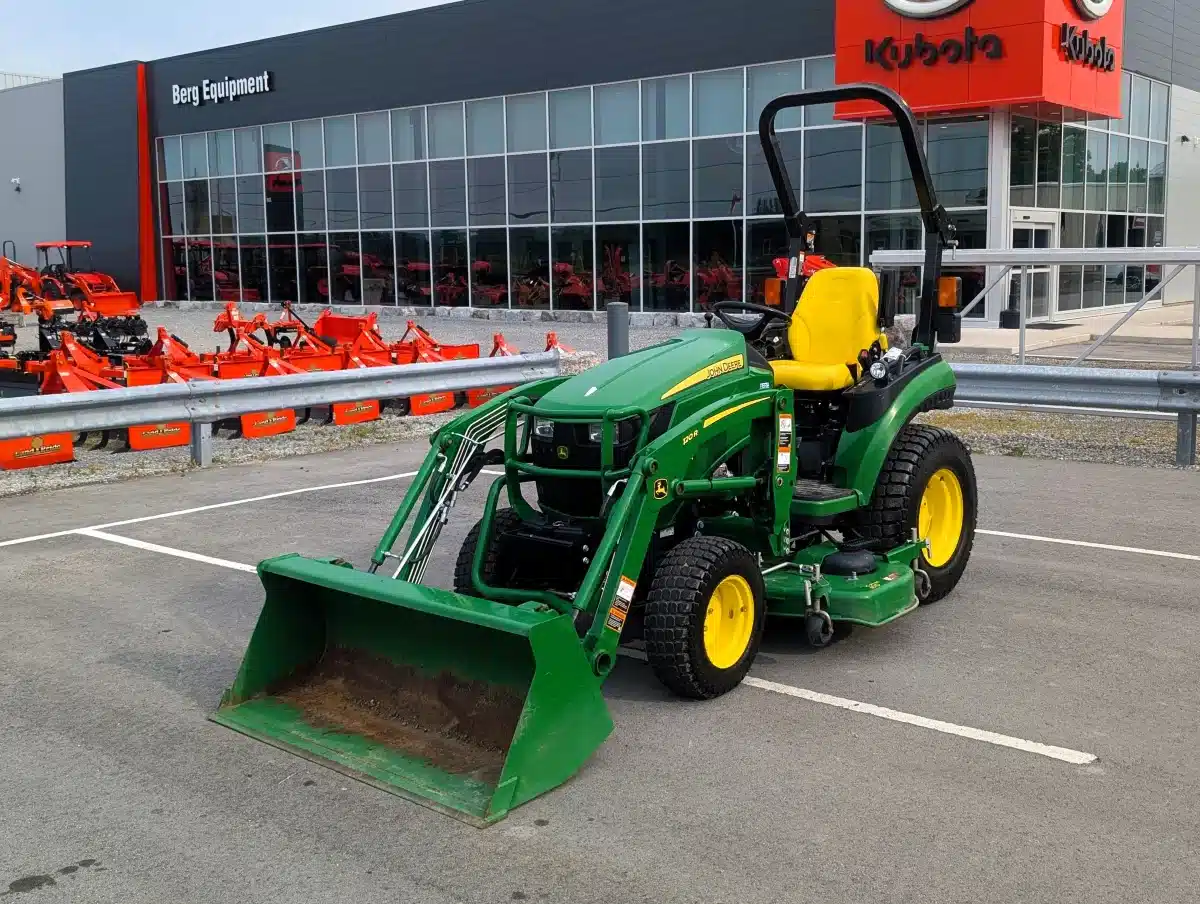
M4 502L0 893L1194 897L1200 475L979 457L984 533L950 598L820 653L770 625L755 682L707 704L625 658L598 755L476 830L205 719L262 604L252 565L286 551L365 562L426 448ZM433 582L448 583L485 483L443 534Z

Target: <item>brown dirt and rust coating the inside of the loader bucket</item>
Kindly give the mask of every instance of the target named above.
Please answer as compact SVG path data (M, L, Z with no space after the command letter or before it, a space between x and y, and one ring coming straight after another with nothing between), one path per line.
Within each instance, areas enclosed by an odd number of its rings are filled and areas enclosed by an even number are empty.
M320 729L360 735L454 774L499 782L524 700L509 689L431 677L354 649L331 649L271 695Z

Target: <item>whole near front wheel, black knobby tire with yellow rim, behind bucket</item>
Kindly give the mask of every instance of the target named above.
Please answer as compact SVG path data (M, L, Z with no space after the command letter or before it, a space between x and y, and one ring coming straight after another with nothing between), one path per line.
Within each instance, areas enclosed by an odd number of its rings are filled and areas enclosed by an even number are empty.
M762 573L750 550L721 537L689 538L654 573L646 599L647 659L679 696L710 700L750 671L766 616Z

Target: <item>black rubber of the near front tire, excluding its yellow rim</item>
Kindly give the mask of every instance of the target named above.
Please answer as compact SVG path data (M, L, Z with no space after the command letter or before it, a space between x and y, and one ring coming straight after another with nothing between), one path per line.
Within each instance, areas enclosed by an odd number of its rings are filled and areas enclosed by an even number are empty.
M755 622L742 658L716 669L704 653L704 615L716 585L740 575L755 598ZM766 593L755 556L721 537L691 537L661 561L646 599L646 655L670 690L692 700L710 700L733 690L750 671L766 623Z

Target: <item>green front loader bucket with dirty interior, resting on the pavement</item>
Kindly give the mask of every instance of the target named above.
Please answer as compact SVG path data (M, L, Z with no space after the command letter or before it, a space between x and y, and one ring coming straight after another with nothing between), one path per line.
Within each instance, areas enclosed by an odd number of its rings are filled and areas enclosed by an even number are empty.
M266 601L215 722L478 826L612 731L570 616L336 561L258 573Z

